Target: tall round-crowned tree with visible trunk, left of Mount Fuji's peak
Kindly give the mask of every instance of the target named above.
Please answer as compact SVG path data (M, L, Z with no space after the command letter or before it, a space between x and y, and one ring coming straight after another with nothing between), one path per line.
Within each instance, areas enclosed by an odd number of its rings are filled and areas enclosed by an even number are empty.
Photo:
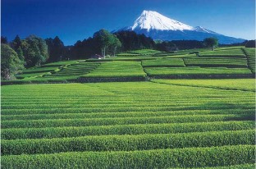
M101 53L105 58L106 49L112 44L113 41L112 34L110 34L107 30L98 30L98 32L94 33L94 39L98 43Z

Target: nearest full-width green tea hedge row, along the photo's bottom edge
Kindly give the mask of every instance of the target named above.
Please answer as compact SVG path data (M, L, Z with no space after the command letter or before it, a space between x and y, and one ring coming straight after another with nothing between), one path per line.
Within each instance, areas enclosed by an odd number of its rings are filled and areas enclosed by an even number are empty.
M254 145L2 156L2 169L217 167L254 163Z

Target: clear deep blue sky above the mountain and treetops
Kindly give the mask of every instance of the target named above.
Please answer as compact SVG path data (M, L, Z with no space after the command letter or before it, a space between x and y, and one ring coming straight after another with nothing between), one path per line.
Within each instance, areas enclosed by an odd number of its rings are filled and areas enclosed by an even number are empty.
M255 39L254 0L2 0L2 35L10 41L58 35L65 45L102 28L133 25L143 10L235 38Z

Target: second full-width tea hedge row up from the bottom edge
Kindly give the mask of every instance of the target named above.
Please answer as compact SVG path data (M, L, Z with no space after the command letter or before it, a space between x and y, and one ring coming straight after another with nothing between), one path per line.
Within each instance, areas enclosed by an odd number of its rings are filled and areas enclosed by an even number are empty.
M1 155L211 147L254 144L254 139L254 130L165 135L101 135L61 139L14 139L2 140Z

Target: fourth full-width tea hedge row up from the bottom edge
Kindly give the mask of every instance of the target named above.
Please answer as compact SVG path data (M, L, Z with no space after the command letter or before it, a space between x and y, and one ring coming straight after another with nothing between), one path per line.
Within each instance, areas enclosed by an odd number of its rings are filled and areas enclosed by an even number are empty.
M61 126L109 126L109 125L128 125L128 124L185 123L185 122L241 121L241 120L244 120L244 121L254 120L254 114L2 121L1 127L2 129L5 129L5 128L26 128L26 127L40 128L40 127L61 127Z

